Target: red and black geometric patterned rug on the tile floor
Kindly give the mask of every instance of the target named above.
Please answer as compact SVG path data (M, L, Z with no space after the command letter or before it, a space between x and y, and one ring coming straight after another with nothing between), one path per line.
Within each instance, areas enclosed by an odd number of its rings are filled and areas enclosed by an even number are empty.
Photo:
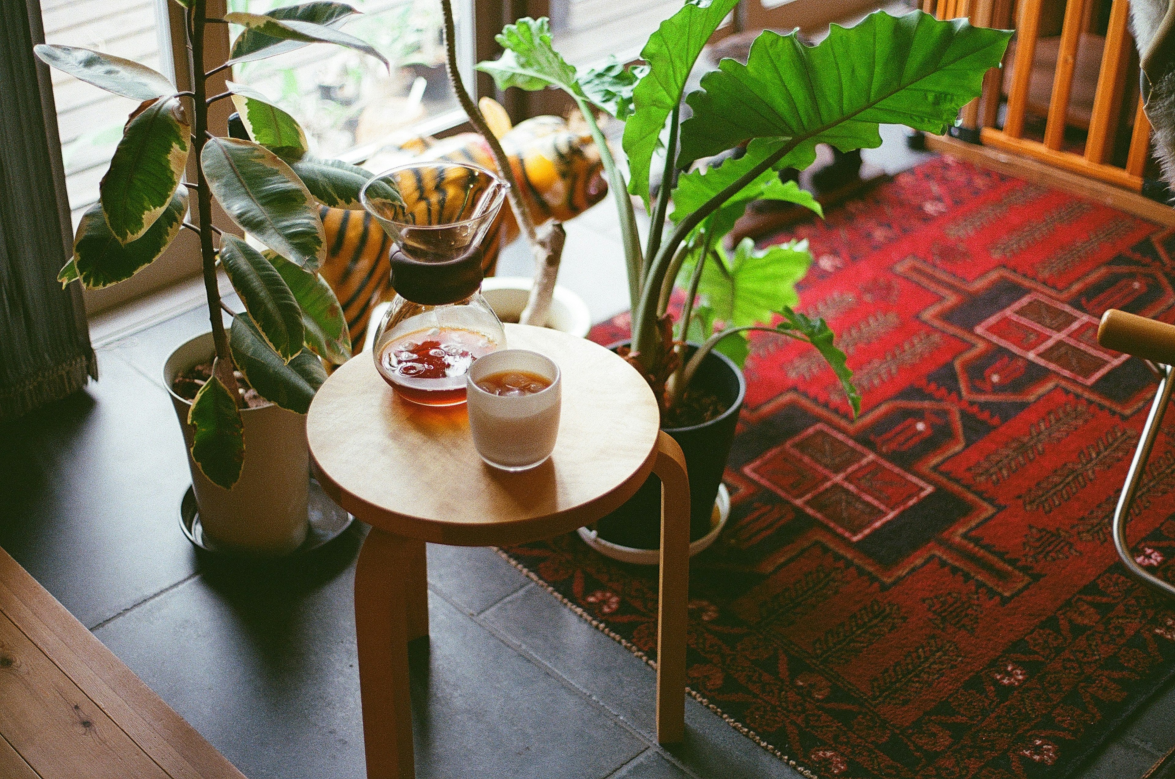
M689 683L820 777L1063 777L1175 673L1175 603L1109 539L1155 382L1107 308L1175 318L1170 230L947 157L784 237L838 333L753 341L732 513L691 566ZM592 337L625 337L625 317ZM759 335L759 334L757 334ZM1132 523L1175 579L1175 418ZM646 659L656 570L505 552Z

